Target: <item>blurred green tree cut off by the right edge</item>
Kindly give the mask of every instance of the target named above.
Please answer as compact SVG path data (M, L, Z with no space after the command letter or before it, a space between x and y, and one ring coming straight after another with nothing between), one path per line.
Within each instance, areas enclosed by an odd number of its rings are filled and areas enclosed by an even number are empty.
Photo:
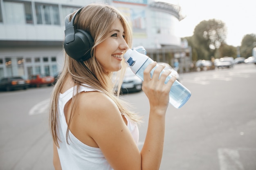
M256 35L255 34L247 34L243 37L240 54L241 57L248 58L252 56L252 49L256 47Z

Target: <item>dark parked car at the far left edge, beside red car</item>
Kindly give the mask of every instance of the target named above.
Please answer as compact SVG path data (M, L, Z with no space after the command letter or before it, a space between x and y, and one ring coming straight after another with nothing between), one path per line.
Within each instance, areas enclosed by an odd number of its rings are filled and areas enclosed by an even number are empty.
M0 80L0 89L11 91L14 89L22 88L26 90L29 87L29 80L22 77L5 77Z

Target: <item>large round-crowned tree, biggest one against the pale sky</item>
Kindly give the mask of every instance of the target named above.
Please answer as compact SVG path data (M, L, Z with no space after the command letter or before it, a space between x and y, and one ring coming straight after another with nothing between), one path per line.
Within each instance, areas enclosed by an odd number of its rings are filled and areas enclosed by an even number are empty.
M203 20L195 26L192 48L197 51L198 59L211 60L216 49L225 43L226 34L225 23L220 20Z

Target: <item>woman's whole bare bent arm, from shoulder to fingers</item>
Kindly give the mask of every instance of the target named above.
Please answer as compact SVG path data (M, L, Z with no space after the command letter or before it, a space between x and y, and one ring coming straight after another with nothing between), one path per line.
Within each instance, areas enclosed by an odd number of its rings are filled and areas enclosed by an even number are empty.
M164 146L165 113L169 102L169 91L175 81L164 81L171 73L166 71L159 78L164 66L159 66L152 78L150 64L144 73L143 90L150 103L148 131L144 146L139 151L137 144L117 105L105 94L87 92L79 97L76 115L72 119L71 131L83 143L99 147L114 170L157 170Z

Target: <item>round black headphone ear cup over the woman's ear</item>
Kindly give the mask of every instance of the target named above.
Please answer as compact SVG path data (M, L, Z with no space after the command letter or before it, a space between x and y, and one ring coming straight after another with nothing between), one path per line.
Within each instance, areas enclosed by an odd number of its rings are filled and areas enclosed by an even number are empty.
M88 60L91 57L91 49L94 43L92 36L81 29L75 30L74 35L67 35L65 40L68 40L68 36L74 36L74 41L64 41L64 49L67 55L79 61Z

